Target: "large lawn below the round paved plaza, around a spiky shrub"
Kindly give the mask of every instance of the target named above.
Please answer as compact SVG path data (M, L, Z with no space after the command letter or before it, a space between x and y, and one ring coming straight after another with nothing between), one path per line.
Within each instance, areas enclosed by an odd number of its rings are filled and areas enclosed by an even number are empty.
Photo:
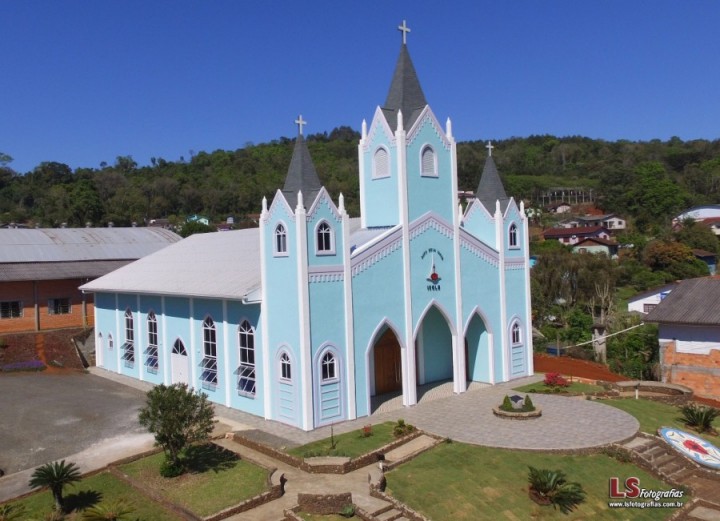
M528 497L528 465L560 469L579 482L587 499L570 515ZM643 470L602 454L590 456L512 451L464 443L440 444L387 473L388 491L436 520L666 519L677 510L608 507L609 478L637 476L644 488L672 487ZM682 501L689 499L688 495Z

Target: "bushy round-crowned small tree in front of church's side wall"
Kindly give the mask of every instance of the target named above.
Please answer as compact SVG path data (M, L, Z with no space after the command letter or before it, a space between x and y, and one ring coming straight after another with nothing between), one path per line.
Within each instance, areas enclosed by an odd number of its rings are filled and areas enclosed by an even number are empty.
M148 391L140 409L140 425L155 435L155 443L165 451L165 475L184 472L182 455L192 443L210 439L215 410L205 393L194 392L186 384L158 385Z

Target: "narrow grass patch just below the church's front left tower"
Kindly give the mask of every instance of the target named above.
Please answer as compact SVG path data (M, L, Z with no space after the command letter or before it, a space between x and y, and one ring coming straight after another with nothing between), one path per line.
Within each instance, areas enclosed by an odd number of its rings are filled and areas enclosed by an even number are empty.
M330 438L314 441L299 447L287 449L287 453L298 458L310 456L347 456L356 458L395 440L394 423L385 422L372 426L372 436L363 436L363 429L335 435L335 449L330 447Z

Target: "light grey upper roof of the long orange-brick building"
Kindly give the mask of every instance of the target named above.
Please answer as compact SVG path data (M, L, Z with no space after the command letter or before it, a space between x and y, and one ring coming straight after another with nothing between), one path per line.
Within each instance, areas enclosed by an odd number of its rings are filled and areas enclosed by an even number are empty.
M135 260L179 240L163 228L0 229L0 264Z

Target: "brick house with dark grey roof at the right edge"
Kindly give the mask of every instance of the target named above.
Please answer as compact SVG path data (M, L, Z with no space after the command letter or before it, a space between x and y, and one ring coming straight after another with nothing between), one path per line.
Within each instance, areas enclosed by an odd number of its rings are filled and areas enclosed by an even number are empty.
M662 381L720 400L720 277L677 283L645 317L658 324Z

